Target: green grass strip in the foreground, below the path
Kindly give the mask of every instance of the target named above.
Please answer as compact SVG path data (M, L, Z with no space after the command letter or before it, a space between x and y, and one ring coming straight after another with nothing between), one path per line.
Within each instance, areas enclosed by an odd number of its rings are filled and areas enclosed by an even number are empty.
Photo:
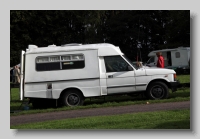
M11 126L11 129L190 129L190 110L72 118Z

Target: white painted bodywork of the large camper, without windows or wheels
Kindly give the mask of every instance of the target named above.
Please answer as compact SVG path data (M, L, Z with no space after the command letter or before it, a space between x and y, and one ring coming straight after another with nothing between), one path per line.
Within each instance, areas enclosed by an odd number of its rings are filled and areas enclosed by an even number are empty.
M72 54L84 55L85 67L83 69L36 71L35 62L38 56ZM173 74L175 72L170 69L145 66L135 69L123 57L124 54L119 47L112 44L69 44L48 47L29 45L23 55L25 60L21 61L21 65L23 66L23 62L25 62L25 68L22 70L21 79L24 78L25 84L21 86L21 100L23 97L58 99L61 92L68 88L79 89L85 97L144 91L153 79L174 81ZM104 56L116 55L121 56L133 70L107 73ZM47 89L47 84L51 84L52 89Z

